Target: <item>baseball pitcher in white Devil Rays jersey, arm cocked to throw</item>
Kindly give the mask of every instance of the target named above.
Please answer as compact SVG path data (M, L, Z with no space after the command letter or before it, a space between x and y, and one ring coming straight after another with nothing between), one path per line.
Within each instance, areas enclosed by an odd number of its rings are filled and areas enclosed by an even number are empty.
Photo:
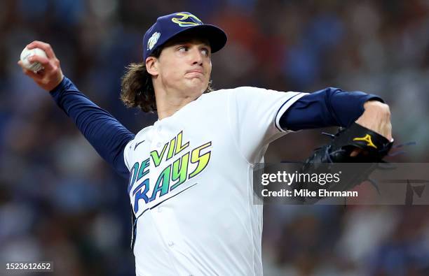
M268 144L292 131L353 124L393 140L379 96L336 88L212 91L212 54L226 40L222 29L191 13L158 17L144 34L142 61L122 79L123 103L158 115L137 134L62 74L50 45L27 45L47 57L31 57L44 69L24 73L128 179L137 275L262 275L262 206L252 203L252 168Z

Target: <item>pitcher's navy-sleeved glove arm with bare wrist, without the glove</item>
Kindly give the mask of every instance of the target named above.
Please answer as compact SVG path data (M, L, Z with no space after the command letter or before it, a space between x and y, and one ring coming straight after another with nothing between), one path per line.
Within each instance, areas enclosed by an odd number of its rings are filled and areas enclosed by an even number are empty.
M392 140L390 110L376 95L327 88L296 101L280 118L283 129L297 131L353 122Z

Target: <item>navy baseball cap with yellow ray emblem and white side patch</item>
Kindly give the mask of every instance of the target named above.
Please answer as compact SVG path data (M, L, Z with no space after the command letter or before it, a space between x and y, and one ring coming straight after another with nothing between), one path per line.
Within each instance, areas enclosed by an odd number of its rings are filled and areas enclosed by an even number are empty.
M198 31L198 36L207 38L212 52L221 50L226 44L226 34L219 27L204 24L198 17L188 12L171 13L158 17L155 24L144 34L143 61L171 38L191 31Z

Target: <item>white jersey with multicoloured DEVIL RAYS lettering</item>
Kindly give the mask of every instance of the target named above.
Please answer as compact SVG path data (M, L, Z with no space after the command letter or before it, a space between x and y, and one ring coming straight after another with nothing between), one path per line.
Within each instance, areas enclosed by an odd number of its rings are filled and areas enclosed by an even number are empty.
M252 168L304 95L222 89L137 133L124 152L137 275L262 275Z

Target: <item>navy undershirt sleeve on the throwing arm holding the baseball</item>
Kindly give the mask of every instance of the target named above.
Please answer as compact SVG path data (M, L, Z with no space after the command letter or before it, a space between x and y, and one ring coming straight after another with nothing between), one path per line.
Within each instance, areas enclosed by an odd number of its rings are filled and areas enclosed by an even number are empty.
M125 126L118 122L109 112L90 101L66 77L50 94L67 116L73 119L83 136L98 154L119 175L128 178L129 171L125 166L123 151L125 145L135 135L125 129Z

